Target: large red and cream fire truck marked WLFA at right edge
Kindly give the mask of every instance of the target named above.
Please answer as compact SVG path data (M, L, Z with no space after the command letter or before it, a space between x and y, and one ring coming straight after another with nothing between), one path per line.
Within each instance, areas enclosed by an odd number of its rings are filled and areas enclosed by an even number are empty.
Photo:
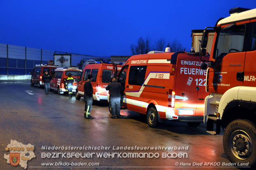
M223 148L230 162L252 167L256 166L256 9L237 7L230 14L215 27L206 27L202 36L203 55L208 29L216 32L208 68L201 65L207 68L206 92L211 93L205 98L204 123L214 135L223 127Z

